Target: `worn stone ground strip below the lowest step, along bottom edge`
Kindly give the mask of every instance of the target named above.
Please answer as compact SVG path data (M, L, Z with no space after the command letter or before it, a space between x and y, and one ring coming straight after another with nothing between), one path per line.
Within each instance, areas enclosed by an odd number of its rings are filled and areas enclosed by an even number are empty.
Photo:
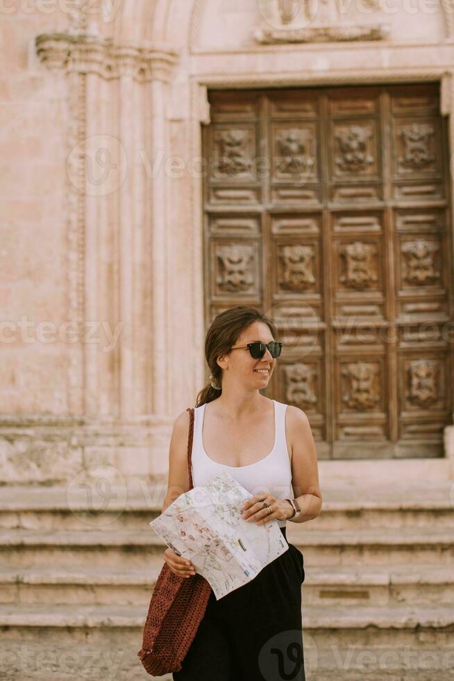
M49 630L55 634L55 630ZM6 662L2 666L2 681L146 681L157 678L173 681L171 674L153 677L146 673L133 648L125 645L121 630L104 636L101 645L78 646L74 641L49 641L43 651L35 639L0 643ZM324 650L314 652L305 637L306 681L452 681L450 660L452 650L442 650L442 638L434 637L440 648L403 650L387 646L373 648L354 646L339 650L335 655ZM133 646L137 646L137 637ZM338 646L339 648L339 646ZM25 652L24 652L25 651ZM44 655L45 653L45 655ZM426 660L429 659L430 662ZM419 662L422 660L422 662ZM425 668L419 668L422 664Z

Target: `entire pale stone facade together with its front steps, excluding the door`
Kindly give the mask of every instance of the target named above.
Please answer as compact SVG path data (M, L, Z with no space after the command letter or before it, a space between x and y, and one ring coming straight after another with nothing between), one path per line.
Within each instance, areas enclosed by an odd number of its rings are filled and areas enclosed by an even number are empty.
M149 522L207 378L208 94L439 83L453 140L453 7L0 5L1 678L145 679L165 549ZM452 679L454 426L444 457L322 460L319 477L322 514L287 523L308 681Z

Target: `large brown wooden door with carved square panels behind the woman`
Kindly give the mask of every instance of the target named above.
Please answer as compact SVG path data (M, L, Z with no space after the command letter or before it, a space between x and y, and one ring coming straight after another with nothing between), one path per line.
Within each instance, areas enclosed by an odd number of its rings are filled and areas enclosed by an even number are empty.
M435 84L210 92L206 324L236 304L285 344L266 394L321 458L443 455L454 300Z

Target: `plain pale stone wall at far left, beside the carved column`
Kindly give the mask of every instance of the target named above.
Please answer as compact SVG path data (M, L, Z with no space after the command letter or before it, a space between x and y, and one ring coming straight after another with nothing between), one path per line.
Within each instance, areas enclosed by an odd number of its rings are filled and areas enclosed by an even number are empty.
M0 10L0 413L69 411L67 82L49 77L35 35L67 17Z

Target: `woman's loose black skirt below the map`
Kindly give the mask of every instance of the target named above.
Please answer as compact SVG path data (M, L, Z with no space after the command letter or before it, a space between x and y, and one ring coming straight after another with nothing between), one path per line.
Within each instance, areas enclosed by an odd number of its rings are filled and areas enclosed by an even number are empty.
M289 544L251 582L219 600L211 591L174 681L305 681L304 577L303 554Z

